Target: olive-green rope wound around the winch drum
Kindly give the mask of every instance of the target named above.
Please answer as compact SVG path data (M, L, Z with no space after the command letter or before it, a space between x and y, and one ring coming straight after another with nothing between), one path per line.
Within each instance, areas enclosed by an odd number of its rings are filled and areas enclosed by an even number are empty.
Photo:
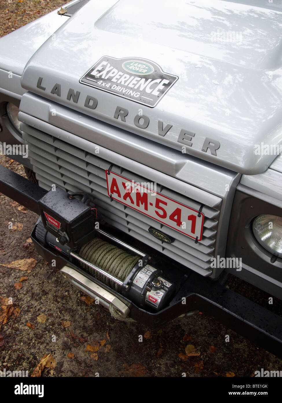
M79 254L85 260L95 264L109 274L124 281L134 266L138 263L140 256L132 256L126 251L95 238L86 245L83 245ZM82 263L82 267L89 271L97 280L111 287L117 292L121 291L120 285L113 282L103 274Z

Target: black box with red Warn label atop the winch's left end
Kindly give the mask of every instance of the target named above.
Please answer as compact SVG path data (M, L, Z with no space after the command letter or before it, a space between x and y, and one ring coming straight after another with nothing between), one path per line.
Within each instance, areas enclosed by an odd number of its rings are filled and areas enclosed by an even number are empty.
M91 207L56 186L38 202L43 225L62 245L79 249L95 237Z

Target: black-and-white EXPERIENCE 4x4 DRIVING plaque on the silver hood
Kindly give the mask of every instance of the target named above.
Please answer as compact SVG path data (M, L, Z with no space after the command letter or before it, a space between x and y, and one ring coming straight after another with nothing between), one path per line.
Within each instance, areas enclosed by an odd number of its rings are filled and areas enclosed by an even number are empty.
M151 60L103 56L79 82L154 108L177 80Z

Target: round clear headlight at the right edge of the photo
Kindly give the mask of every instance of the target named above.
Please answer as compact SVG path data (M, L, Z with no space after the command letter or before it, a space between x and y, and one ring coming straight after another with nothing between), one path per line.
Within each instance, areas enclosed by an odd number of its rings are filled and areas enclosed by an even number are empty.
M253 222L257 241L270 253L282 258L282 218L263 214Z

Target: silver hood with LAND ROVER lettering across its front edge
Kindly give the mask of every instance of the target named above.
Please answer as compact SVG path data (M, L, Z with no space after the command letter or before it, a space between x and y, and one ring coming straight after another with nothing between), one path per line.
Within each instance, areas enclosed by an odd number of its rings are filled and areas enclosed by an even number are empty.
M179 152L243 174L264 172L276 157L267 145L282 143L281 2L102 3L90 0L39 48L22 86ZM156 89L155 105L83 82L105 57L129 75L124 62L151 66L151 75L132 73L139 80L170 82ZM220 146L212 153L207 143Z

